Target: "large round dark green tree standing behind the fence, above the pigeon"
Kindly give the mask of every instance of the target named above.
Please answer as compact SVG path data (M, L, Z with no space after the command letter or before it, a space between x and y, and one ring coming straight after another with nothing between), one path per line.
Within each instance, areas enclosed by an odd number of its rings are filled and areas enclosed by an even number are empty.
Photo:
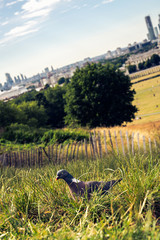
M115 126L135 117L135 91L112 65L88 64L77 69L67 85L65 122L81 126Z

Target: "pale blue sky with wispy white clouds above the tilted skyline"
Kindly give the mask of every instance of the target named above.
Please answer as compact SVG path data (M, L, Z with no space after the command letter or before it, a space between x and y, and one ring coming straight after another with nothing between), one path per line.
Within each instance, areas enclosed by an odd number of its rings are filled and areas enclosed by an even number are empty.
M0 82L142 41L158 14L159 0L0 0Z

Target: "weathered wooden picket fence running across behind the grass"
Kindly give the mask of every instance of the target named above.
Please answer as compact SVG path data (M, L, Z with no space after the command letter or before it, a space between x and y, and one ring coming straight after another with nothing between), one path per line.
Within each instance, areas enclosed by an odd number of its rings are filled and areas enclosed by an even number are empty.
M135 155L153 154L158 152L156 140L146 138L139 133L129 134L127 131L122 134L114 131L90 133L89 140L68 144L54 144L47 147L39 147L31 150L18 152L7 152L0 155L2 166L14 167L42 167L48 163L67 163L79 158L103 158L108 154L115 155Z

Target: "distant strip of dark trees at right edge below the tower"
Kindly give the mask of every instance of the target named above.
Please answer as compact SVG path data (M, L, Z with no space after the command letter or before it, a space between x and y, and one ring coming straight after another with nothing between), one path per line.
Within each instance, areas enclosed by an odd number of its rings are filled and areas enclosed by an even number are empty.
M140 62L138 68L136 65L129 65L129 73L137 72L138 70L145 70L150 67L158 66L160 64L160 56L158 54L153 54L150 59Z

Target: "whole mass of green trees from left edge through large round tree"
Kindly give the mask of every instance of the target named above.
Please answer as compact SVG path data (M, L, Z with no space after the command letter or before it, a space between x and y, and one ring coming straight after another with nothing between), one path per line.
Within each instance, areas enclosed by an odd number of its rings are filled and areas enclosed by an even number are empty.
M135 91L129 77L113 65L88 64L77 68L70 80L61 79L60 84L0 101L3 137L38 141L46 129L115 126L131 121L137 111L132 105Z

